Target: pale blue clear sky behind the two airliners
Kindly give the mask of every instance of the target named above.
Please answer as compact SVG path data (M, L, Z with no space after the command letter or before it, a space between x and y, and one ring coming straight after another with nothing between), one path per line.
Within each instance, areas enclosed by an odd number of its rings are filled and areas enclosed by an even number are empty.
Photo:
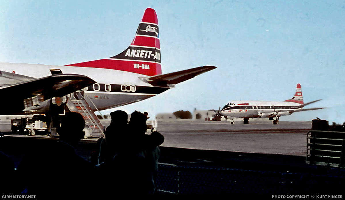
M66 65L114 56L156 10L162 73L215 70L117 109L218 109L230 100L323 99L281 120L345 121L344 1L4 1L0 62ZM115 109L115 110L117 110ZM114 110L114 109L113 109ZM103 111L109 113L108 111Z

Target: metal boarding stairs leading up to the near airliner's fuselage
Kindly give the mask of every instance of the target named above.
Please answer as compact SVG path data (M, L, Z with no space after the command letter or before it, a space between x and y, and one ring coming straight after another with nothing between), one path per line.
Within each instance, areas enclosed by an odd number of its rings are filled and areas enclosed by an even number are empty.
M86 98L88 98L86 96ZM89 102L93 104L91 99L89 98ZM103 125L97 118L96 114L92 111L90 105L82 95L80 91L73 92L67 96L66 105L71 112L78 112L80 113L84 120L85 120L85 131L86 137L103 137ZM97 109L96 105L93 106ZM99 112L100 113L100 112ZM100 113L101 114L101 113ZM101 114L102 115L102 114Z

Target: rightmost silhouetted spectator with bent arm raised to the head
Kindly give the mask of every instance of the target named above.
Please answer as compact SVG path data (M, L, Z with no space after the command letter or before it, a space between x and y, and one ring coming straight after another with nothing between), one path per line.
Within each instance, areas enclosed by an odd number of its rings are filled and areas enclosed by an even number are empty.
M122 148L114 157L117 188L120 191L153 193L158 171L158 146L164 142L164 136L158 132L146 135L147 116L133 112L128 122L128 132ZM127 145L129 144L129 146Z

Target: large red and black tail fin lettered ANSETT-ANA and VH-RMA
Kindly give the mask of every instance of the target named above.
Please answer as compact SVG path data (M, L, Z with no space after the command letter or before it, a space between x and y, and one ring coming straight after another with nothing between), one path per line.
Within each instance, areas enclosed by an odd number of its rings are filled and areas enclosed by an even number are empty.
M66 66L116 69L147 76L162 74L156 11L152 8L145 10L132 43L122 53Z

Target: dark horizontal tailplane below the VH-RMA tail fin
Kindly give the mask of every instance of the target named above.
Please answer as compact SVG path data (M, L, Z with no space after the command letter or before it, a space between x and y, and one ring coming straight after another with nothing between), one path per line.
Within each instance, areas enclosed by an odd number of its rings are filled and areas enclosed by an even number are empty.
M158 85L158 86L170 85L170 84L173 85L173 84L178 84L180 82L194 78L197 75L200 75L202 73L205 73L215 68L217 67L201 66L201 67L195 67L195 68L186 69L182 71L176 71L176 72L168 73L168 74L160 74L160 75L155 75L155 76L150 76L150 77L140 77L140 79L148 82L151 85Z

